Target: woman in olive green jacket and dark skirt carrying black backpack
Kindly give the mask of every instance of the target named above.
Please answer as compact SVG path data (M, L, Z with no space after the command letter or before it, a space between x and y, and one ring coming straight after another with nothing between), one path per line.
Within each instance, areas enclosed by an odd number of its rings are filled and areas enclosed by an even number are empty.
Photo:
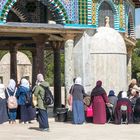
M45 94L43 87L49 87L49 84L44 80L43 75L40 73L37 75L36 86L34 87L33 94L37 99L36 108L38 109L39 128L42 131L49 131L47 105L43 103L43 97Z

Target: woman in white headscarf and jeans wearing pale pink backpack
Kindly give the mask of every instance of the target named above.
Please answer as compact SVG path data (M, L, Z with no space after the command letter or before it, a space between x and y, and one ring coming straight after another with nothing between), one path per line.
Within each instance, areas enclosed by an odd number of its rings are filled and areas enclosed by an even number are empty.
M8 99L10 96L16 96L16 82L13 79L10 79L9 84L5 90L6 98ZM9 109L9 123L14 124L16 123L16 116L17 116L17 108Z

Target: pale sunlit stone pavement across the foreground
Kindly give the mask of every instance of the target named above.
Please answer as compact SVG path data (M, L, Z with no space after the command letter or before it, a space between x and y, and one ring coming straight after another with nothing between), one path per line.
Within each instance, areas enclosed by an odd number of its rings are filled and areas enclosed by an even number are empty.
M140 124L105 124L55 122L49 119L50 132L38 130L38 123L1 124L0 140L140 140Z

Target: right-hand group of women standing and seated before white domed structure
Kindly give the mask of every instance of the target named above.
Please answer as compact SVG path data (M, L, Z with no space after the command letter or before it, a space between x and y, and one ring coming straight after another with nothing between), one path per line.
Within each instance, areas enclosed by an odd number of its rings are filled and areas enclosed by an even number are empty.
M135 81L135 82L134 82ZM132 79L128 91L120 91L118 96L110 90L108 96L102 87L102 81L97 81L91 94L85 93L81 78L74 81L70 89L69 104L72 106L73 124L83 124L85 122L87 108L93 111L92 122L94 124L105 124L113 121L115 124L139 123L140 122L140 88L136 80ZM89 97L90 103L86 104L83 99Z

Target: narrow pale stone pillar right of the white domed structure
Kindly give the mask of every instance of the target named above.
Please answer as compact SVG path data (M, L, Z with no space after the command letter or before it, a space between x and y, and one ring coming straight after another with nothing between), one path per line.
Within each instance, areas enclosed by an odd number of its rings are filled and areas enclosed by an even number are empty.
M132 50L133 47L127 46L127 82L130 83L132 79Z

